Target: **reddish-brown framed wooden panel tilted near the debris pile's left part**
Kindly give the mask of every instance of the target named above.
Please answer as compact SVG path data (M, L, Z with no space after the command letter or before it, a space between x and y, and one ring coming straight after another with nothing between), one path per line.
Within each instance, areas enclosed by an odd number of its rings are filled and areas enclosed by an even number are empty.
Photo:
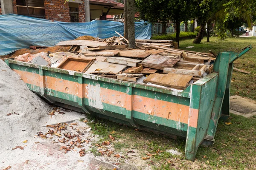
M68 57L60 65L58 65L57 68L84 72L90 67L90 65L92 65L93 61L94 59L81 59L81 58Z

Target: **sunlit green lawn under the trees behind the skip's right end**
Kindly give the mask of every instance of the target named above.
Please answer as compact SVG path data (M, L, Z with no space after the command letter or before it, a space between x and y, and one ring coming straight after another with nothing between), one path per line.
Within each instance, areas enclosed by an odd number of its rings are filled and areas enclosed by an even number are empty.
M252 45L253 49L237 59L234 63L236 68L249 71L251 74L233 71L230 94L256 100L256 37L234 37L225 40L210 37L210 42L206 42L205 37L200 44L192 44L192 41L192 39L180 41L180 49L198 52L212 50L217 54L222 51L239 51L247 45ZM195 47L186 48L187 46Z

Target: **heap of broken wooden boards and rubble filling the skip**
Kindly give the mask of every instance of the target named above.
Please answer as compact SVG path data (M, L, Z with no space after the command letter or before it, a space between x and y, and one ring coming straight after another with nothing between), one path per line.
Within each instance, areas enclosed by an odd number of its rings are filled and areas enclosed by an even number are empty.
M68 46L67 52L26 53L15 60L176 89L185 89L213 70L211 53L174 49L171 40L136 40L137 49L130 49L129 41L117 34L59 42L55 47Z

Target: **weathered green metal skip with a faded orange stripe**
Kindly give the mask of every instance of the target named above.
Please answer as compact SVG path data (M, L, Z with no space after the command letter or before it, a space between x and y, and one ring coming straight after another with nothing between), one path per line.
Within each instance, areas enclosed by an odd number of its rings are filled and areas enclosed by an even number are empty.
M82 109L104 119L186 138L186 159L214 140L220 118L229 116L233 62L249 51L221 52L214 72L185 90L125 82L27 62L5 60L29 89L49 102Z

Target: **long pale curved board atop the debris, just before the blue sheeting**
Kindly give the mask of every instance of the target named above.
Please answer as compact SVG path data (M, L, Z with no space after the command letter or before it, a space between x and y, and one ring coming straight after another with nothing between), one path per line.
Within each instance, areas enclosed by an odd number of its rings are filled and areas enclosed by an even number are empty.
M108 45L108 42L99 42L99 41L89 41L89 40L70 40L70 41L61 41L55 46L65 46L65 45L86 45L87 47L98 47L98 46L104 46Z

